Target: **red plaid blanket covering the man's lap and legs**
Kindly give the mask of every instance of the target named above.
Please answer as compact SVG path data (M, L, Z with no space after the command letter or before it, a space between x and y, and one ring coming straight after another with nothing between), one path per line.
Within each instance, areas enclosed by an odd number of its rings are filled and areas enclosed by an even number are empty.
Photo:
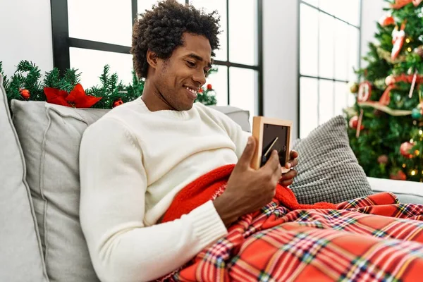
M178 219L226 187L233 166L180 191L163 221ZM419 281L423 206L388 192L333 205L301 205L288 188L166 281Z

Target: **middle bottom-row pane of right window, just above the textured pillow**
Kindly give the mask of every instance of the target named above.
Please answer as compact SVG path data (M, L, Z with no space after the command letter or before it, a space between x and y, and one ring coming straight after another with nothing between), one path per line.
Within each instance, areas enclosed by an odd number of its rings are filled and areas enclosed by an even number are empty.
M319 81L319 124L326 123L333 117L333 82Z

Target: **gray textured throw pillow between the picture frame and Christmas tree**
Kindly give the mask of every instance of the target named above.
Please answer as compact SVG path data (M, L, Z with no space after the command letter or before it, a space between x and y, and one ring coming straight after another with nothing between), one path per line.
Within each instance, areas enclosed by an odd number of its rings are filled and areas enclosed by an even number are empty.
M298 202L338 203L372 194L347 135L343 116L336 116L295 142L298 176L290 185Z

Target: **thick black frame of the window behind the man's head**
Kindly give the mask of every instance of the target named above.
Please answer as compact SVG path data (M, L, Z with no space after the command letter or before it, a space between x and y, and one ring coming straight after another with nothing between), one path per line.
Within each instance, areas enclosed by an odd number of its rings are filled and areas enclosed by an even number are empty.
M137 18L137 0L130 0L132 6L132 19ZM256 109L259 116L263 115L263 0L257 0L257 65L246 65L243 63L233 63L229 57L229 0L226 0L226 40L228 44L226 61L215 60L215 66L227 66L228 79L228 105L231 104L231 78L229 75L230 68L247 68L257 71L258 87ZM189 4L189 0L185 0L185 4ZM69 37L68 22L68 0L51 0L51 32L53 37L53 64L63 74L66 69L71 68L70 48L92 49L97 51L111 51L121 54L130 54L130 47L110 44L105 42L96 42L87 39L79 39ZM129 19L128 19L129 20Z

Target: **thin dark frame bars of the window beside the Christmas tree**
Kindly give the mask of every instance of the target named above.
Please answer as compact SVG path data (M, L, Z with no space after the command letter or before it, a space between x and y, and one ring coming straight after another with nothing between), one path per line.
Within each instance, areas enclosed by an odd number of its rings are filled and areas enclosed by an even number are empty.
M363 0L360 0L360 5L359 5L359 20L358 20L358 25L353 25L352 23L348 23L348 21L346 21L346 20L343 20L343 19L341 19L341 18L338 18L337 16L334 16L333 14L331 14L331 13L328 13L328 12L326 12L326 11L324 11L324 10L321 10L321 8L319 8L319 5L318 6L314 6L314 5L312 5L312 4L309 4L307 1L304 1L304 0L298 0L298 16L297 16L297 18L298 18L298 38L297 38L297 44L298 44L298 56L297 56L297 59L298 59L298 61L297 61L297 66L298 66L298 75L297 75L297 78L298 78L298 81L297 81L297 89L298 89L298 91L297 91L297 101L298 101L298 104L297 104L297 124L298 124L298 126L297 126L297 135L298 135L298 137L300 137L300 133L301 133L301 131L300 131L300 118L301 118L301 83L300 83L300 81L301 81L301 78L314 78L314 79L316 79L317 80L317 123L319 124L319 108L320 108L320 87L319 87L319 82L320 82L320 80L329 80L329 81L331 81L331 82L344 82L345 84L348 84L348 83L350 83L350 81L349 80L340 80L340 79L337 79L337 78L335 78L335 74L333 73L333 78L325 78L325 77L321 77L321 76L319 76L319 63L320 63L320 61L319 61L319 55L320 55L320 50L319 50L319 45L317 45L317 69L318 69L318 75L302 75L301 74L301 70L300 70L300 63L301 63L301 52L300 52L300 44L301 44L301 28L300 28L300 26L301 26L301 5L302 4L304 4L304 5L306 5L306 6L309 6L310 8L314 8L314 9L316 9L319 13L324 13L324 14L326 14L327 16L331 16L331 17L333 17L335 20L340 20L341 22L343 22L343 23L345 23L345 24L347 24L347 25L350 25L351 27L355 27L355 28L357 28L357 30L358 30L358 33L359 33L359 40L358 40L358 68L360 69L361 68L361 57L362 57L362 46L361 46L361 41L362 41L362 38L361 38L361 35L362 35L362 1ZM318 18L317 19L317 24L318 24L318 37L319 37L319 28L320 28L320 25L319 25L319 22L320 22L320 18ZM349 34L348 34L348 38L349 38ZM317 39L318 40L318 43L319 43L319 39ZM333 44L335 44L335 40L333 40Z

